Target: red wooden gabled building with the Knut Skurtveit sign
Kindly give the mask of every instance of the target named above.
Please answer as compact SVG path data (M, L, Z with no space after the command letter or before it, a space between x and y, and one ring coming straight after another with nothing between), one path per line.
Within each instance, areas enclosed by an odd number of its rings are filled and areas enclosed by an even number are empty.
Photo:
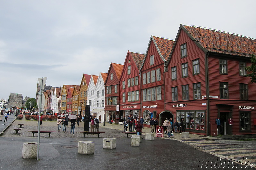
M145 54L128 51L121 73L120 87L120 121L123 116L140 119L140 74L139 70ZM122 117L121 117L122 116Z

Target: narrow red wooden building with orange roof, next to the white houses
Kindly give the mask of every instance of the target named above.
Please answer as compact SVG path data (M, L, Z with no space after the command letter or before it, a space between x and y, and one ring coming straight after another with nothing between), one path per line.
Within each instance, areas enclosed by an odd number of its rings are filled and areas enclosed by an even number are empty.
M108 75L105 81L105 115L106 121L112 115L114 122L119 122L119 105L120 105L120 92L119 80L123 70L122 64L111 63L108 70Z

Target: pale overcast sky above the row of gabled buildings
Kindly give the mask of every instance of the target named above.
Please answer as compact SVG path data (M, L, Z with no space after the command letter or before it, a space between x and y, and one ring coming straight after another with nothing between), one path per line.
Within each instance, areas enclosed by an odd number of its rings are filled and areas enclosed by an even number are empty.
M2 0L0 99L36 98L46 84L80 85L83 74L145 53L150 36L175 39L180 24L256 38L255 0Z

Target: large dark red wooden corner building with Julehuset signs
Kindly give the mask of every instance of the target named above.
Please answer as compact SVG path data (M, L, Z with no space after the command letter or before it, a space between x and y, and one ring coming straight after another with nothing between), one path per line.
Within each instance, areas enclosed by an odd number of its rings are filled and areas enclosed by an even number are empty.
M255 134L256 88L245 71L255 53L255 39L180 25L165 66L165 110L192 133Z

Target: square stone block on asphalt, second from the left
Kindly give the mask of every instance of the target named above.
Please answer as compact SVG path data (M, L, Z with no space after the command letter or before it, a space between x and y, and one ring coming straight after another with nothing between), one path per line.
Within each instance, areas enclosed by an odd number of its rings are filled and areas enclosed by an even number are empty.
M95 142L92 141L79 141L77 153L89 155L94 154Z

